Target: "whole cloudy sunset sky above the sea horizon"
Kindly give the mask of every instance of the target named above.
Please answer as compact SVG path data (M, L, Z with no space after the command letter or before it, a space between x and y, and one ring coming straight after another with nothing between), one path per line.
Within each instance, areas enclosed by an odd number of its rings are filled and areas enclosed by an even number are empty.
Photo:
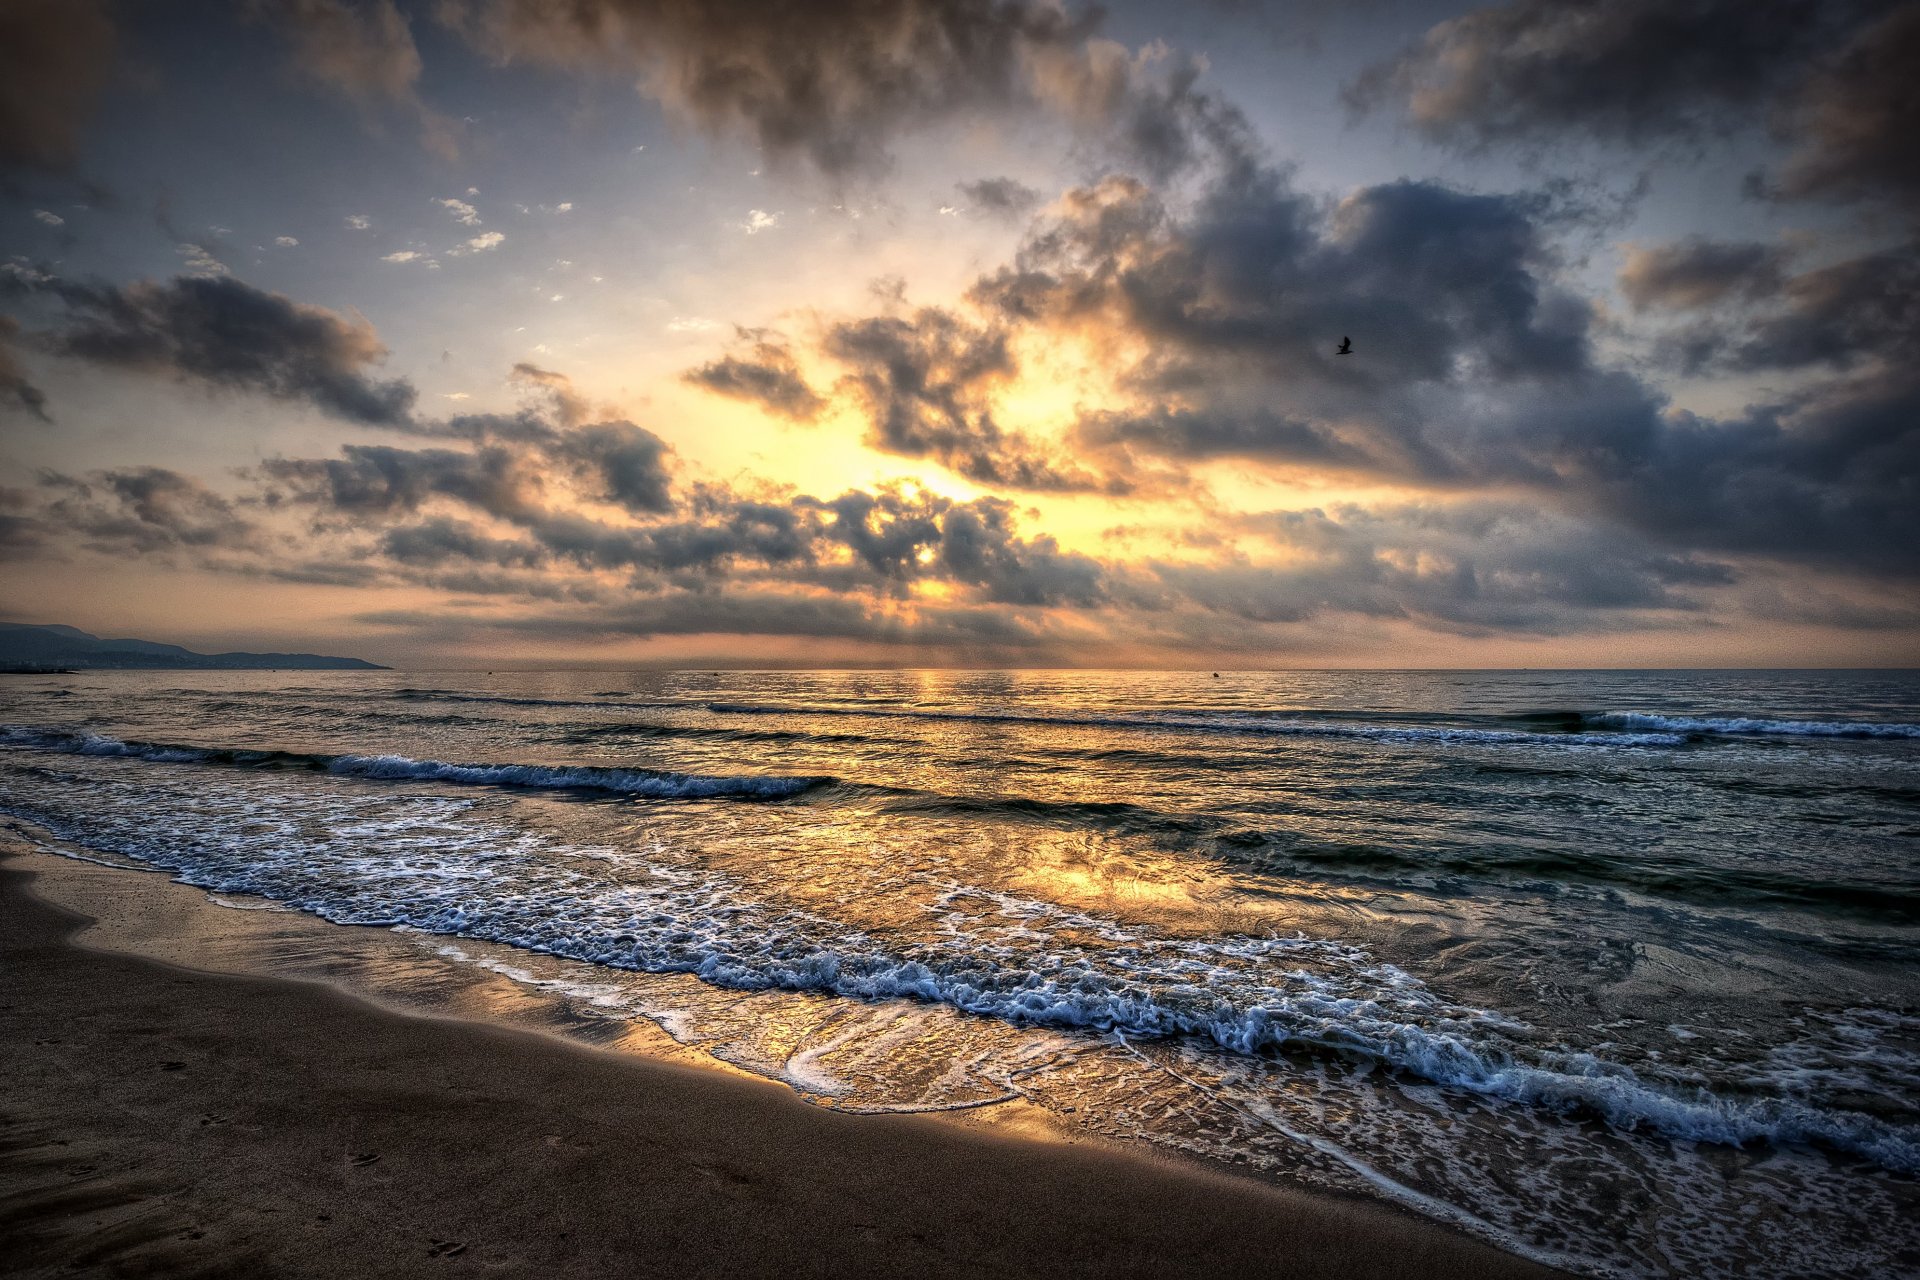
M1920 666L1914 65L1914 0L0 0L0 618Z

